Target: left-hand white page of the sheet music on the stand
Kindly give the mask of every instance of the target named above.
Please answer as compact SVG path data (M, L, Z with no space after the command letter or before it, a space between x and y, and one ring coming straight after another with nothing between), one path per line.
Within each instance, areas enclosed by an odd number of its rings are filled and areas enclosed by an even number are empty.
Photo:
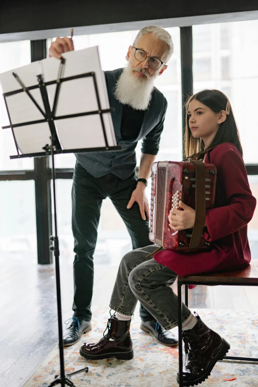
M42 63L41 61L33 62L29 65L0 74L0 84L3 93L22 88L13 76L13 73L18 75L26 87L38 85L37 76L42 74ZM45 112L39 88L33 89L30 92L43 112ZM22 91L6 96L5 99L12 125L44 119L43 114L35 106L26 92ZM51 133L47 123L26 125L14 128L13 130L18 148L23 154L43 152L43 146L50 142Z

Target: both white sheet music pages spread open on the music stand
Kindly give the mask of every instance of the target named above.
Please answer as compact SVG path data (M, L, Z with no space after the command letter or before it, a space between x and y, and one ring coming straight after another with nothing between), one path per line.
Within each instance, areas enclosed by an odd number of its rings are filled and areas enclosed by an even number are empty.
M94 72L98 86L101 109L109 108L105 76L101 70L98 47L90 47L63 54L66 59L62 78ZM58 78L60 59L48 58L33 62L0 74L3 93L20 90L22 86L13 76L18 75L26 87L38 86L38 75L43 74L44 82ZM56 85L47 86L50 107L53 106ZM45 113L40 88L30 93ZM11 125L43 120L44 116L25 91L5 97ZM96 92L92 77L63 82L60 87L56 116L98 111ZM103 114L109 146L116 146L116 138L110 113ZM100 115L88 115L55 121L57 135L62 149L88 149L105 147ZM11 130L11 129L5 129ZM13 129L19 150L23 154L42 153L43 146L50 143L51 132L47 123L24 125Z

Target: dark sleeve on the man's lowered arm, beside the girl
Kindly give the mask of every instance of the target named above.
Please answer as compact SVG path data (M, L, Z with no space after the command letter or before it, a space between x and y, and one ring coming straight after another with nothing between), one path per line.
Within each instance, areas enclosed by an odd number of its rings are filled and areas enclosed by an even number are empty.
M160 136L164 128L164 120L168 107L167 99L164 97L164 108L159 123L143 138L141 153L157 155L159 151Z

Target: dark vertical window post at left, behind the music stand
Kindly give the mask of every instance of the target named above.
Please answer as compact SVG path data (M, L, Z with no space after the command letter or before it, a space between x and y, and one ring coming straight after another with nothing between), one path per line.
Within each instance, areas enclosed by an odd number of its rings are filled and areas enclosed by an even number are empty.
M31 61L46 58L46 40L31 41ZM49 251L49 237L52 233L51 188L48 179L47 158L34 159L36 225L38 244L38 263L52 263Z

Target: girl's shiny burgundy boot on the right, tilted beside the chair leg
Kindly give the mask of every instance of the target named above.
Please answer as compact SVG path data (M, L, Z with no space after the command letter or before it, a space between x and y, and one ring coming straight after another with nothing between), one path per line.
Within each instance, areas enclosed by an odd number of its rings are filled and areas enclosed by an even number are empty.
M183 386L195 386L204 382L211 374L218 360L222 360L230 345L212 331L200 319L198 323L183 332L183 341L188 348L187 364L183 369ZM176 376L179 383L179 373Z

